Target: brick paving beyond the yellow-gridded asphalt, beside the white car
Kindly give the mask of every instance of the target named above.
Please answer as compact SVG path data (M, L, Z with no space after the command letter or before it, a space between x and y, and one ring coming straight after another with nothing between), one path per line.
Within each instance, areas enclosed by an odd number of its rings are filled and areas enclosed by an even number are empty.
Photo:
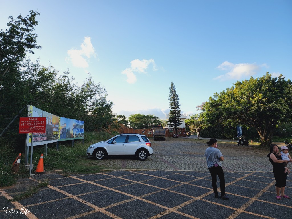
M154 169L154 170L208 170L206 166L206 140L191 138L166 139L166 141L152 141L154 154L144 161L135 158L105 159L98 161L109 169ZM255 146L237 146L225 143L218 149L223 154L224 170L230 171L272 171L267 160L267 150L255 149ZM236 156L235 156L236 155ZM268 162L267 162L268 161Z

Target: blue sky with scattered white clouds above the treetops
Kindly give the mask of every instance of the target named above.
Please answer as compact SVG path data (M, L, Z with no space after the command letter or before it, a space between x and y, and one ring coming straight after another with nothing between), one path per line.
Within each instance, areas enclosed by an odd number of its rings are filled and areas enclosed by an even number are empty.
M118 115L169 112L174 82L182 113L236 81L270 72L292 79L292 1L8 1L8 16L38 11L42 46L32 60L88 73L107 90Z

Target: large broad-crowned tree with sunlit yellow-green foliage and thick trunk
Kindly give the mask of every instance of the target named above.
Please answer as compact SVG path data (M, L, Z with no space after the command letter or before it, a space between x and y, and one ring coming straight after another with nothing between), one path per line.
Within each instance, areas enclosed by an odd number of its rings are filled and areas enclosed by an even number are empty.
M208 125L254 127L262 145L268 147L277 124L292 118L292 81L267 72L260 78L237 81L226 91L215 93L204 105Z

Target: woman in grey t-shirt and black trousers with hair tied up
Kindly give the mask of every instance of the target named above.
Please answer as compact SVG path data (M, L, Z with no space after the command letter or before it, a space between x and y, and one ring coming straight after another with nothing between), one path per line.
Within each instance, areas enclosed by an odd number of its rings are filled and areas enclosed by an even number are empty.
M207 145L209 146L206 149L205 156L207 159L207 166L211 173L212 177L212 187L213 191L215 193L215 198L219 198L218 190L217 190L217 175L220 180L220 190L221 190L221 199L229 199L227 195L225 194L225 177L223 173L223 168L221 161L223 161L223 155L219 149L217 149L217 140L215 138L211 138Z

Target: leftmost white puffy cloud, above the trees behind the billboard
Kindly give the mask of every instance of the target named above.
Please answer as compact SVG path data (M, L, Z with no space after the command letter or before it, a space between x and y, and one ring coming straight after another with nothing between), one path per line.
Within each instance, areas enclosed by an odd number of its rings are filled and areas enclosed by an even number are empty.
M91 56L96 57L94 48L91 44L90 37L84 37L83 43L81 43L81 49L70 49L67 51L69 57L66 58L67 62L72 62L75 67L87 68L88 60Z

